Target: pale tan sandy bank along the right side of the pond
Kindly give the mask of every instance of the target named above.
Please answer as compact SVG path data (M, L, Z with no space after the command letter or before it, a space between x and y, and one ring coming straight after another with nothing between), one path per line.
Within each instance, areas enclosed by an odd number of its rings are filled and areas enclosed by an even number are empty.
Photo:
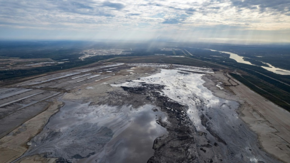
M229 84L223 72L204 77L204 84L216 96L240 103L239 117L259 137L262 148L283 162L290 162L290 113L250 90L244 84L219 90L218 81ZM226 93L225 93L226 91Z

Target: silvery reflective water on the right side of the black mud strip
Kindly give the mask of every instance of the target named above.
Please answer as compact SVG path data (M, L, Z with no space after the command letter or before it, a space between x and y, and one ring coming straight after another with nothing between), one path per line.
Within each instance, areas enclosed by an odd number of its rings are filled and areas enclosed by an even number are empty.
M195 143L191 144L182 154L186 157L187 151L194 151L196 160L184 162L221 162L219 159L222 159L223 162L278 162L259 148L257 135L239 118L238 102L216 97L203 85L205 83L202 79L204 74L180 72L182 71L176 69L161 69L159 73L121 84L111 84L111 86L142 87L144 83L164 85L165 87L161 91L164 96L188 107L186 112L181 111L180 114L187 114L196 130L206 133L207 136L205 138L202 135L193 134ZM167 107L168 110L178 113L179 111L175 108L174 106ZM206 122L201 115L207 117ZM168 117L170 119L173 116L169 114ZM182 119L179 121L183 122ZM210 127L206 127L205 123ZM171 127L174 128L175 125L178 124L173 124ZM186 133L189 134L185 132L185 135ZM219 139L217 139L217 135ZM175 138L171 140L173 139ZM221 139L225 143L222 143ZM210 145L210 142L211 146L203 147L208 143ZM214 146L214 142L217 142L218 146ZM172 145L172 148L177 144ZM186 146L186 144L183 145ZM167 149L164 149L168 151L164 155L168 157L174 155L169 152L170 147ZM206 152L201 149L206 149ZM212 158L212 161L208 158Z

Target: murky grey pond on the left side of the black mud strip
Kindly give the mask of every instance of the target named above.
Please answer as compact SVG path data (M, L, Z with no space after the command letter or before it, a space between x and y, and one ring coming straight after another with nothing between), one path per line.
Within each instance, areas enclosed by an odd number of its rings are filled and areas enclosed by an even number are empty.
M89 106L65 101L24 154L45 154L71 162L147 162L154 139L167 133L153 105Z

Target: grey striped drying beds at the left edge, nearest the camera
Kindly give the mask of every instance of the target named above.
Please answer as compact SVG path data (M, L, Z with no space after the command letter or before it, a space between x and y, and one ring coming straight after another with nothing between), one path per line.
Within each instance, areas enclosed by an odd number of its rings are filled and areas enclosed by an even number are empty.
M44 100L59 92L33 89L7 89L0 102L0 138L25 121L43 112L49 103Z

